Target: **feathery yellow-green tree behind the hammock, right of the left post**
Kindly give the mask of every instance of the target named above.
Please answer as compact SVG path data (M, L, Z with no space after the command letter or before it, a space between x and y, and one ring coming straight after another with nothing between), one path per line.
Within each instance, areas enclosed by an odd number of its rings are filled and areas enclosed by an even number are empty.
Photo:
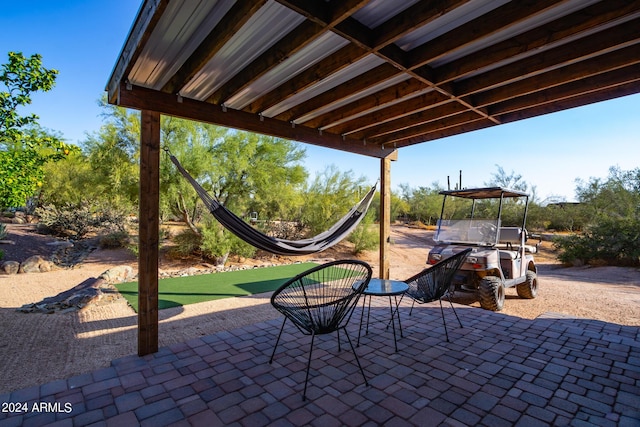
M163 124L163 144L238 216L257 212L264 219L290 219L299 211L307 173L301 165L304 149L294 142L171 118ZM195 192L167 158L163 161L167 206L174 215L198 222Z

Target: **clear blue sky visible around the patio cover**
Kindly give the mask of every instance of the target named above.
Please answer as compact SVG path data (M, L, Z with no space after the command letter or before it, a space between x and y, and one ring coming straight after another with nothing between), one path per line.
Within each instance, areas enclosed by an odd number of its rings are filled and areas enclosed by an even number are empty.
M102 119L98 100L129 33L137 0L2 1L0 63L9 51L39 53L60 74L56 87L36 94L29 108L40 124L80 145ZM25 111L26 112L26 111ZM501 166L550 196L574 199L576 179L606 178L611 166L640 167L640 94L548 114L399 150L392 187L482 186ZM380 162L364 156L305 145L313 174L326 166L351 170L371 183Z

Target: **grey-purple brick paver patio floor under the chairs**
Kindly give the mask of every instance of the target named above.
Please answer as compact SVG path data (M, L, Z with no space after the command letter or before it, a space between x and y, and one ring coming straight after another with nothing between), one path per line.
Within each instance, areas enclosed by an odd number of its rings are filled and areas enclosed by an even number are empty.
M360 308L349 333L355 345ZM374 308L388 315L388 307ZM384 320L356 348L269 321L114 360L0 395L2 426L640 426L640 328L548 313L535 320L457 305L401 306L398 352Z

